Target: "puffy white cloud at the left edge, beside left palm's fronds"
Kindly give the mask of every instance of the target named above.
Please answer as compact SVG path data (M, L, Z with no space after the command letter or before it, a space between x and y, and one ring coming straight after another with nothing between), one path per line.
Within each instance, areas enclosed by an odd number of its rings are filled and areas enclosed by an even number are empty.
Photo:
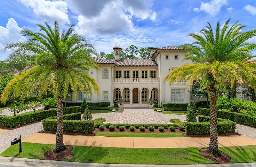
M0 26L0 50L2 50L8 43L25 42L27 38L19 34L20 30L22 30L22 28L18 26L18 23L13 18L8 19L6 27ZM9 53L10 51L1 53L0 60L5 60Z

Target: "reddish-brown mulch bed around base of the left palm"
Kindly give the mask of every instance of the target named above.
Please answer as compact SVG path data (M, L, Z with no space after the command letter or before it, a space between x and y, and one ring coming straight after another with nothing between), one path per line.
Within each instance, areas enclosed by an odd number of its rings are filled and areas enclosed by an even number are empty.
M73 155L71 155L72 151L73 151L73 147L71 146L65 146L66 149L64 151L61 151L59 153L53 153L53 149L50 149L49 151L47 151L44 154L44 159L46 160L60 160L62 158L64 159L71 159L73 158Z

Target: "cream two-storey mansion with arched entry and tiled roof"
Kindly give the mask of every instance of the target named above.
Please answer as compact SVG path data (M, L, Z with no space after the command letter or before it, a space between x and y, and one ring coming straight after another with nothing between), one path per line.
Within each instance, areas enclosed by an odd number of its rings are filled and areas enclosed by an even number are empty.
M188 91L188 83L183 81L169 85L163 83L163 78L172 69L189 60L182 61L186 52L176 46L163 48L150 47L151 60L120 60L122 48L113 48L115 60L105 60L93 57L100 70L90 69L88 73L95 78L100 87L100 94L93 92L78 92L74 99L70 93L66 101L110 102L119 104L122 96L124 106L147 106L149 98L155 103L189 103L192 99ZM194 99L193 99L194 100ZM198 99L195 99L197 101Z

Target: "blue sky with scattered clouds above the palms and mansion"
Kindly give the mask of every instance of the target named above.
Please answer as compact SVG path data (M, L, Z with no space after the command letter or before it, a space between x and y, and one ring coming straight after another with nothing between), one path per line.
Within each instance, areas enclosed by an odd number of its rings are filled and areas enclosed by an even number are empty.
M36 24L61 28L74 24L76 33L106 54L113 47L125 50L130 45L141 47L179 46L191 43L188 33L207 26L215 28L231 18L231 23L256 28L255 0L1 0L0 49L11 42L26 41L21 28L38 31ZM249 42L256 43L256 37ZM5 60L10 51L0 52ZM254 52L256 54L256 52Z

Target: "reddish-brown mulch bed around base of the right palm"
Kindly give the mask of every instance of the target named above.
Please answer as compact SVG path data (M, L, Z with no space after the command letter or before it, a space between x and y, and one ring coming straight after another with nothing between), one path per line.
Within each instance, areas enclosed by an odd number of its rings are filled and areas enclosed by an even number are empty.
M212 155L209 155L205 152L206 148L201 148L199 150L200 155L202 155L204 158L207 158L209 160L218 162L218 163L229 163L229 161L231 160L230 156L226 153L223 153L222 151L220 151L221 156L220 157L215 157Z

